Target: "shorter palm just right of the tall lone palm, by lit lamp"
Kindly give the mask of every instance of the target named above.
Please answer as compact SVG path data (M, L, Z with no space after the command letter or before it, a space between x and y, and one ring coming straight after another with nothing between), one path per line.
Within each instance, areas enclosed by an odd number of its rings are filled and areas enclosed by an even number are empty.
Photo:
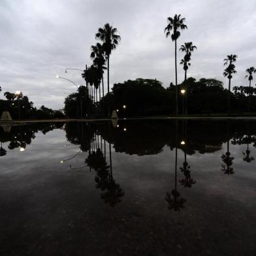
M184 59L181 60L180 64L183 65L183 69L185 71L185 114L187 114L187 69L190 67L189 61L191 60L191 52L197 49L197 46L193 45L193 42L185 42L180 47L180 51L185 52Z

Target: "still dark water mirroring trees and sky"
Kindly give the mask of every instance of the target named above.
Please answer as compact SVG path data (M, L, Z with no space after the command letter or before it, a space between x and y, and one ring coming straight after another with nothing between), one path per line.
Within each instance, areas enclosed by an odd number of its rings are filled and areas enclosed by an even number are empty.
M255 255L256 121L0 127L0 255Z

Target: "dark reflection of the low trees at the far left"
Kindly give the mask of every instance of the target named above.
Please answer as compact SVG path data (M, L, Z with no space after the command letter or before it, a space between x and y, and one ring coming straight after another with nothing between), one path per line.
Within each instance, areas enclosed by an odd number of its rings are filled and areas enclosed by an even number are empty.
M14 150L20 148L24 151L26 146L31 144L32 139L35 139L35 134L41 131L43 134L60 128L63 123L34 123L31 125L1 125L0 127L0 156L7 154L7 150L3 148L3 143L9 142L8 149Z

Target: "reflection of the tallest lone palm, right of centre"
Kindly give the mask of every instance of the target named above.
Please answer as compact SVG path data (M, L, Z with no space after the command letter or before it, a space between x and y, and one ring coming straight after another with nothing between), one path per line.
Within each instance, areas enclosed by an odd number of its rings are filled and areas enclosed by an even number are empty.
M174 210L175 212L180 212L181 208L184 208L186 199L181 197L180 193L177 190L177 158L178 158L178 121L176 121L176 148L175 148L175 187L172 189L172 192L165 196L165 200L168 202L168 209Z

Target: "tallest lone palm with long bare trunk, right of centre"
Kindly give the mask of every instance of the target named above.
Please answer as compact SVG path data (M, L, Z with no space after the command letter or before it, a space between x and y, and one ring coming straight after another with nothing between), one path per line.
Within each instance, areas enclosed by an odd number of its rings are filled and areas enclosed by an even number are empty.
M168 25L165 27L166 37L171 37L175 42L175 98L176 98L176 115L178 115L178 88L177 88L177 39L180 37L180 30L187 29L187 25L184 24L185 18L180 18L180 14L174 15L174 18L167 18ZM170 34L170 31L173 31Z

